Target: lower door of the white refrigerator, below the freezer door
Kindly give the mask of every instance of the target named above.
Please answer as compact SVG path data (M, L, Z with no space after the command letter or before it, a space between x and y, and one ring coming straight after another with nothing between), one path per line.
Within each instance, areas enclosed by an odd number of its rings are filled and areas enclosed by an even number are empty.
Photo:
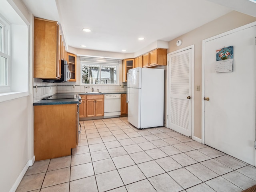
M140 128L140 96L141 89L138 88L128 88L128 122Z

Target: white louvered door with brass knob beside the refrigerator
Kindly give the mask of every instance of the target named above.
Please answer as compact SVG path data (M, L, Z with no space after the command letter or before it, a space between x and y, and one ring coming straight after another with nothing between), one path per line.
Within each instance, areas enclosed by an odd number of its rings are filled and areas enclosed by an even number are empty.
M192 48L169 55L168 127L192 136Z

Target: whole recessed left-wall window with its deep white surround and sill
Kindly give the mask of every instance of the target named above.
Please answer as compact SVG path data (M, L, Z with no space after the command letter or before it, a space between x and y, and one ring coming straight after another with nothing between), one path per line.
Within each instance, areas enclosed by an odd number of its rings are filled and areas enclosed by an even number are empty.
M0 13L0 102L28 96L31 17L19 1L1 1ZM22 9L19 9L21 7Z

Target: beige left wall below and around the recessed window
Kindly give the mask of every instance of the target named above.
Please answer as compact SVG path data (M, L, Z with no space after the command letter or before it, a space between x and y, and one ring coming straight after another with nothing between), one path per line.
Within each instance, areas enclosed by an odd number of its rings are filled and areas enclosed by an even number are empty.
M29 36L29 96L0 102L0 191L14 191L17 180L33 150L33 96L32 96L32 27L33 16L20 0L8 1L13 8L30 22ZM22 62L22 61L21 61ZM27 74L24 74L27 76ZM16 182L16 183L15 183Z

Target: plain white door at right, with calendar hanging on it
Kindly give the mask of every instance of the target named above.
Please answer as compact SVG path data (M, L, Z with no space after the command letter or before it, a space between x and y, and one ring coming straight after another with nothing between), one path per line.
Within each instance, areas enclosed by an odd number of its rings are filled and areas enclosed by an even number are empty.
M204 143L255 165L256 26L204 41ZM215 73L216 50L234 46L233 72Z

